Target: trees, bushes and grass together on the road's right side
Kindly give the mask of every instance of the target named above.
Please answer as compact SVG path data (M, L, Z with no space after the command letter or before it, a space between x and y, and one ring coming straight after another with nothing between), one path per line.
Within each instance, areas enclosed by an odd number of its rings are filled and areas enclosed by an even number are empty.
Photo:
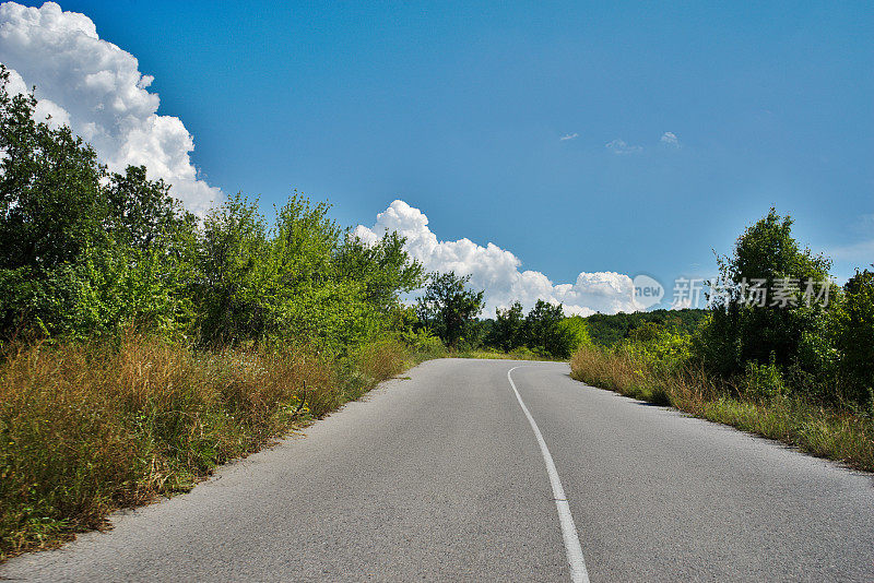
M771 210L720 258L697 328L641 318L578 349L572 377L874 472L874 273L830 283L791 225Z

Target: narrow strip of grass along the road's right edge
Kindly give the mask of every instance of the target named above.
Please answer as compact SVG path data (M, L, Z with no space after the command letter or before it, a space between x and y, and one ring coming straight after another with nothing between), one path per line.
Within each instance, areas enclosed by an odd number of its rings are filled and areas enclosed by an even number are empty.
M571 377L623 395L671 405L802 451L874 472L874 421L818 406L799 396L756 397L699 371L659 371L631 355L599 348L578 350Z

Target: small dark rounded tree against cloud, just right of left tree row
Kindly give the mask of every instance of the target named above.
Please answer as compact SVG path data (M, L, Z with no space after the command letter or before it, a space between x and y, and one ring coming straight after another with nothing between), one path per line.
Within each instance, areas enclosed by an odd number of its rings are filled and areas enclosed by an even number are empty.
M470 275L434 273L425 294L416 301L416 316L423 325L451 347L458 345L471 320L483 309L484 291L468 289Z

